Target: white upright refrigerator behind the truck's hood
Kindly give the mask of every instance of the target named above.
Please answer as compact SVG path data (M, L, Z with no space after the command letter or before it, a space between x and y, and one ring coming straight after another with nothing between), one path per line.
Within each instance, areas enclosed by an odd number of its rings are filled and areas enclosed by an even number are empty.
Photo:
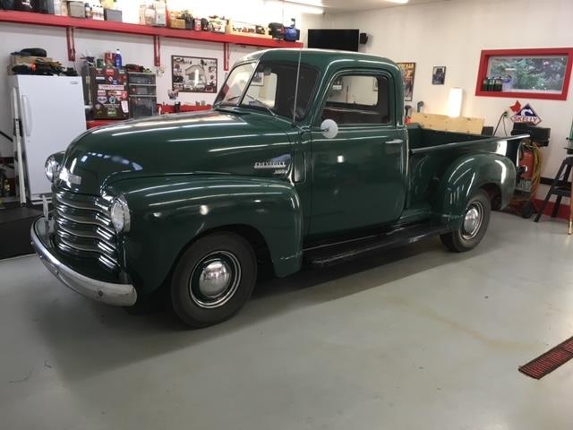
M15 75L9 86L20 201L38 203L51 188L47 157L86 130L81 77Z

